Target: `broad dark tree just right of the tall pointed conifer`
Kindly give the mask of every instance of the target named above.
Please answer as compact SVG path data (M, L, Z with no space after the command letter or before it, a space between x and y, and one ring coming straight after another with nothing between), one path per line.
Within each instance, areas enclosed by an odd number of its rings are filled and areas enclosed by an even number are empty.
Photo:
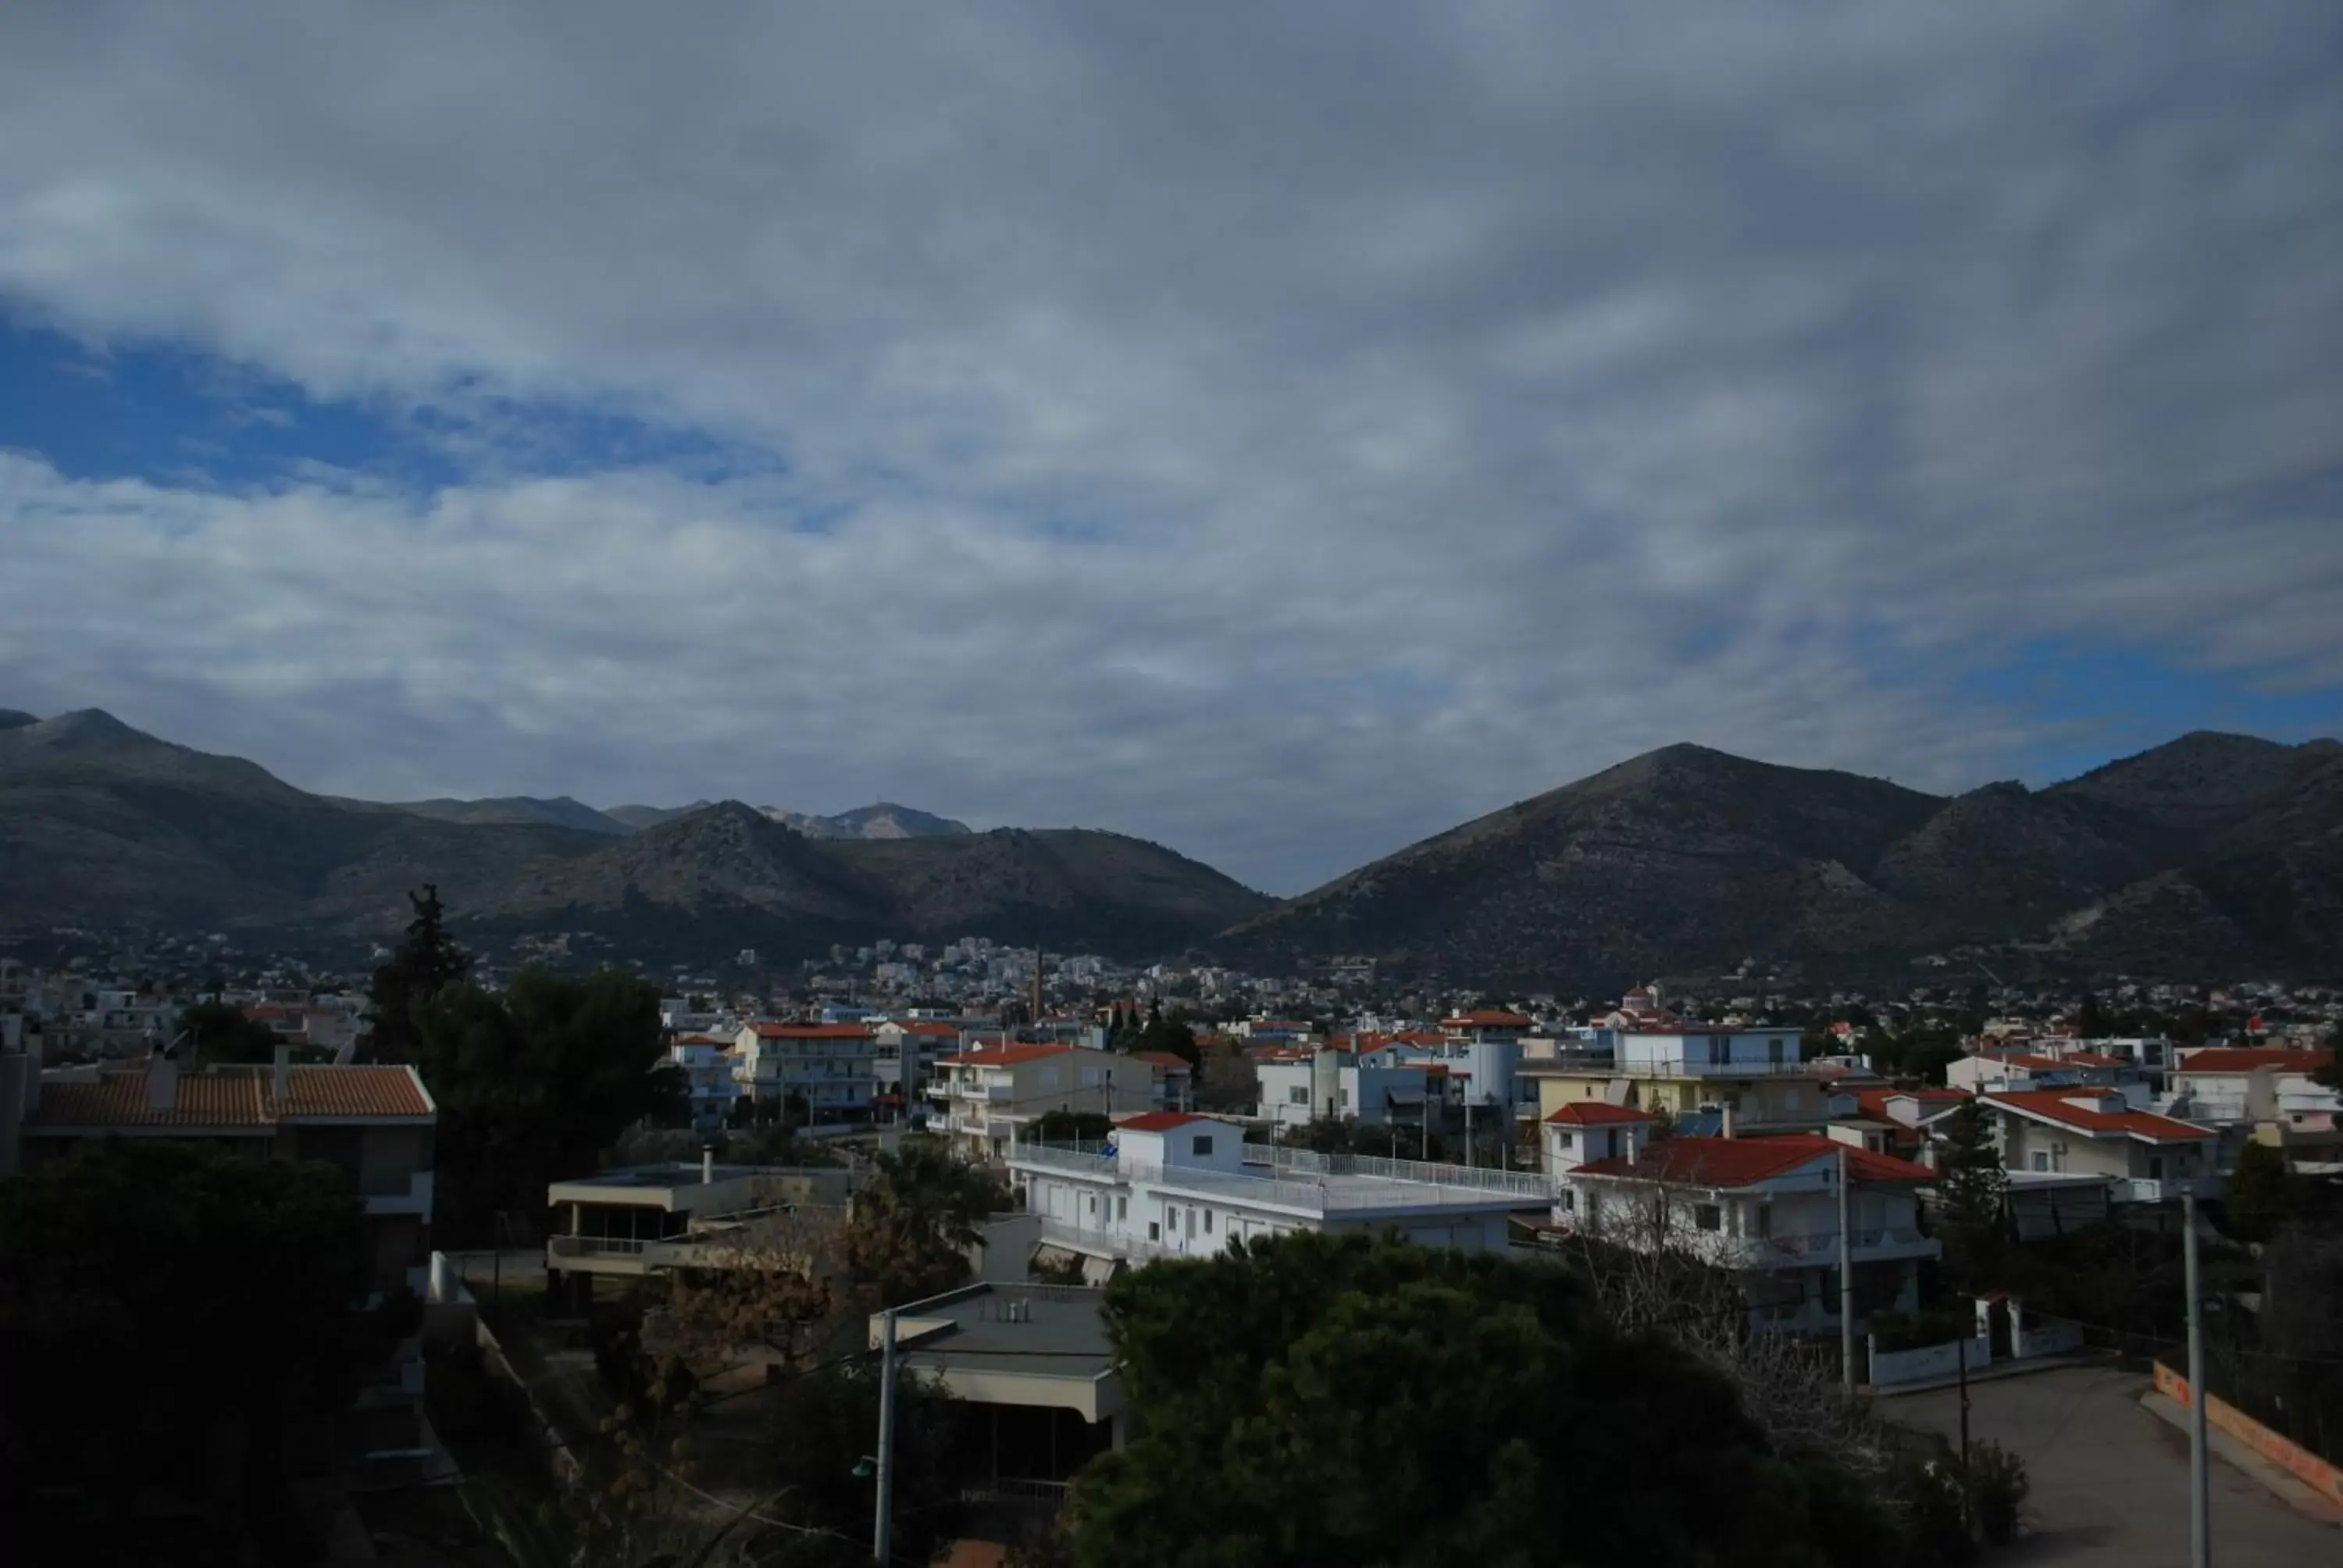
M658 989L623 970L522 970L504 996L443 989L417 1017L415 1066L440 1106L438 1226L492 1245L494 1212L539 1214L616 1134L684 1116Z

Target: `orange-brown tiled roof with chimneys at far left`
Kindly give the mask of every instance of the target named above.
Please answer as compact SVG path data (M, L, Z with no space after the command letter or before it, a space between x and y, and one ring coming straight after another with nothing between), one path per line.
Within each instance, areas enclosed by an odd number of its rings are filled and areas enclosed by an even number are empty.
M28 1127L251 1127L344 1116L436 1116L422 1078L405 1066L295 1066L293 1097L269 1104L269 1069L183 1071L169 1111L148 1109L145 1071L96 1083L47 1080Z

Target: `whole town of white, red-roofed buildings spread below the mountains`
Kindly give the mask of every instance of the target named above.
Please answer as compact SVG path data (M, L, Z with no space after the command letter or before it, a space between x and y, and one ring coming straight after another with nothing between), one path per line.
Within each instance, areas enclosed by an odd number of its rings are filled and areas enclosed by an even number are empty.
M637 1507L565 1514L579 1549L757 1528L780 1516L754 1488L820 1463L888 1477L881 1559L914 1507L921 1549L1078 1549L1075 1500L1115 1495L1113 1455L1172 1420L1118 1338L1146 1289L1195 1289L1155 1263L1328 1245L1420 1249L1432 1277L1429 1256L1560 1270L1610 1331L1668 1324L1760 1425L1830 1404L1825 1451L1891 1535L2017 1530L2024 1463L1985 1441L1949 1451L1954 1523L1914 1523L1879 1455L1956 1439L1938 1388L1966 1411L1970 1380L2102 1359L2149 1366L2172 1420L2209 1380L2224 1432L2294 1441L2294 1486L2334 1486L2336 1409L2287 1399L2334 1350L2306 1240L2343 1186L2334 989L1422 996L1364 963L1258 977L965 938L834 949L757 994L497 973L433 893L415 907L363 984L201 938L0 961L0 1174L66 1181L73 1151L117 1148L194 1184L164 1153L187 1144L354 1186L373 1359L269 1484L389 1547L494 1533L609 1474L614 1437L691 1430L722 1463L637 1465ZM562 1050L530 1038L546 1015L593 1059L527 1055ZM513 1038L466 1045L480 1029ZM576 1078L558 1106L511 1104L532 1059ZM2233 1313L2212 1357L2184 1345L2198 1228ZM797 1378L911 1427L858 1439L876 1458L778 1460ZM890 1472L914 1427L923 1470ZM187 1472L173 1507L218 1521L218 1486ZM415 1505L433 1495L466 1498L459 1526ZM780 1523L848 1533L834 1500Z

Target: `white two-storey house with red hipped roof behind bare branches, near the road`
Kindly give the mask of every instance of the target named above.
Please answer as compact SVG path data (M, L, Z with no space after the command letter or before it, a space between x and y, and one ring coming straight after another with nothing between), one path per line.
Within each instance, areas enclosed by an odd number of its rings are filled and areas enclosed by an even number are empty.
M1839 1322L1842 1172L1858 1317L1912 1310L1921 1261L1942 1252L1919 1230L1919 1188L1935 1172L1811 1132L1671 1137L1560 1172L1553 1230L1682 1249L1743 1275L1755 1324L1823 1331Z

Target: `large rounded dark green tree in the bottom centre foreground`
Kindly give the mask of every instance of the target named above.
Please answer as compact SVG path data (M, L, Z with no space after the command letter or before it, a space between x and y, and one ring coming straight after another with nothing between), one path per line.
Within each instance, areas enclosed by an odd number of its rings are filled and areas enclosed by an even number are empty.
M1080 1566L1874 1563L1893 1526L1560 1263L1289 1235L1108 1287ZM1209 1500L1209 1505L1204 1505Z

